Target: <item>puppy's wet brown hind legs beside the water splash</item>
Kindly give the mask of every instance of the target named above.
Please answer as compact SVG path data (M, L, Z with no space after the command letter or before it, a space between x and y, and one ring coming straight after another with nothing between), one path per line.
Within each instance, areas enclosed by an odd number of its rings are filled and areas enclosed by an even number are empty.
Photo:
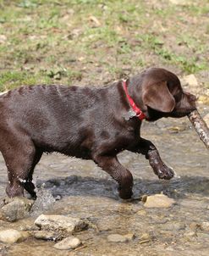
M20 131L13 131L13 133L7 131L4 136L0 150L8 168L8 186L6 188L8 197L24 196L24 187L32 197L36 197L31 178L35 163L38 162L34 143L30 136L22 134Z

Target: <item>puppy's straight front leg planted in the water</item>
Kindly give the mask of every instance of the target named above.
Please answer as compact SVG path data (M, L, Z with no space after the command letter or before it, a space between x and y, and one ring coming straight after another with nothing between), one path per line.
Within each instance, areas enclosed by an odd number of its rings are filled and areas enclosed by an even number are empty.
M129 199L132 196L133 176L118 162L116 156L96 155L93 157L98 166L105 170L118 182L119 197Z

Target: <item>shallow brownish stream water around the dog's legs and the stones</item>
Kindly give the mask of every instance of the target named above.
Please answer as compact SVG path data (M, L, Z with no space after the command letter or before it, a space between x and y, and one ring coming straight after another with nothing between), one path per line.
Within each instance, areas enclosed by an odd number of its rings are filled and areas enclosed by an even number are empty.
M201 114L208 110L202 109ZM0 243L0 255L208 255L209 231L197 228L203 221L209 221L208 151L187 118L144 122L141 131L175 170L173 180L158 180L141 155L125 151L118 159L134 175L135 198L163 192L176 200L172 208L146 209L139 201L124 202L118 198L117 184L92 161L45 155L34 175L41 190L30 218L15 223L1 221L0 229L24 229L43 212L70 214L92 224L89 230L75 234L85 248L58 251L52 247L53 242L28 238L7 248ZM7 173L2 157L0 176L3 196ZM60 200L54 202L51 195ZM134 233L135 239L108 242L107 236L115 233ZM149 238L143 241L141 236Z

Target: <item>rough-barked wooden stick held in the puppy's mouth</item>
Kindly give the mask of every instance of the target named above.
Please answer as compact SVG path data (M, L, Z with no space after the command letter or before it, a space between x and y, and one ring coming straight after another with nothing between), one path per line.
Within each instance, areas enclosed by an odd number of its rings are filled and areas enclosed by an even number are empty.
M209 149L209 129L206 122L201 118L201 114L197 110L194 110L188 114L188 118L201 141L205 144L206 148Z

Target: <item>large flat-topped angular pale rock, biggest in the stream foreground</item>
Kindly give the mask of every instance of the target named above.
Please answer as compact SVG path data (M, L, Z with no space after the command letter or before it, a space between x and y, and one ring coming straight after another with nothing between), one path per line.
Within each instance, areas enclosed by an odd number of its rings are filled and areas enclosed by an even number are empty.
M82 231L88 227L84 220L72 218L64 215L41 214L36 220L35 225L45 231L66 231L72 234L75 231Z

